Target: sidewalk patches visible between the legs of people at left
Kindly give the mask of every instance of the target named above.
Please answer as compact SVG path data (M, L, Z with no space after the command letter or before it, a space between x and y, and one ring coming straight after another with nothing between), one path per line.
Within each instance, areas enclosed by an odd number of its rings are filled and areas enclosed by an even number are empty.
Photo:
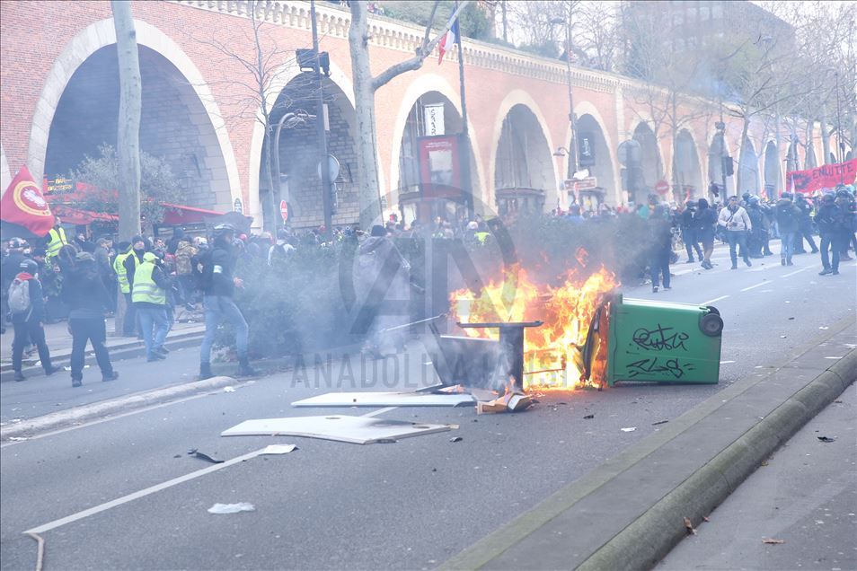
M181 312L180 312L181 313ZM178 317L178 316L177 316ZM176 321L167 336L167 347L174 345L178 341L188 341L190 339L198 339L205 332L205 323L186 322L180 323ZM114 332L114 319L107 318L107 347L110 349L110 356L126 357L134 356L144 351L144 343L142 339L133 337L119 337ZM12 369L12 340L14 338L12 324L9 323L6 332L0 335L0 382L11 381L13 379ZM50 349L50 358L54 365L68 365L71 357L72 337L68 332L68 322L60 321L59 323L50 323L45 326L45 338L48 341ZM93 356L92 346L87 346L86 356L87 363L90 362ZM25 376L41 375L43 370L39 363L39 354L33 350L31 356L24 356L23 373ZM28 373L30 373L28 375Z

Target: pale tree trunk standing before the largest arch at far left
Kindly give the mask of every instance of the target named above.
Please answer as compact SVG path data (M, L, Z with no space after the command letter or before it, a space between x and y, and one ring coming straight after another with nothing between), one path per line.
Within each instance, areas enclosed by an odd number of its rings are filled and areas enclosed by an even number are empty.
M119 240L140 233L140 109L142 82L131 3L112 0L119 57Z

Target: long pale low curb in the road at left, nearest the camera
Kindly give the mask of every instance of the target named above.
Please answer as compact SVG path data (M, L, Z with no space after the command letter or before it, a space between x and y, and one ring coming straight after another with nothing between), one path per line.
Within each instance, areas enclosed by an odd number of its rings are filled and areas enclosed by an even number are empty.
M218 376L205 381L186 382L163 389L137 392L120 399L102 400L93 402L77 408L60 410L49 415L24 420L12 426L0 428L0 441L10 440L12 437L27 438L40 433L49 432L69 425L80 424L93 418L109 417L119 412L126 412L128 408L135 411L146 406L159 403L164 399L175 399L192 394L220 389L231 384L237 384L233 377Z

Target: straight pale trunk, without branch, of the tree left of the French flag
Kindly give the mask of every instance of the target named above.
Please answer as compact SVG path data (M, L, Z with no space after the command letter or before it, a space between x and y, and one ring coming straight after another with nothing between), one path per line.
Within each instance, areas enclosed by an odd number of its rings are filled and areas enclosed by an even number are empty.
M354 111L357 128L354 143L358 154L358 203L360 226L368 230L381 221L378 189L378 162L375 149L375 92L369 67L368 24L366 3L351 3L349 28L351 76L354 83Z

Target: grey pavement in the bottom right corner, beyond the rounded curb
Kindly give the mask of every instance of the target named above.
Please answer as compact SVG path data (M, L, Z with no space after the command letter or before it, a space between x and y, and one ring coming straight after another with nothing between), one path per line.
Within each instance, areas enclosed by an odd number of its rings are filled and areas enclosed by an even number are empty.
M851 385L657 569L857 569L855 442L857 386Z

